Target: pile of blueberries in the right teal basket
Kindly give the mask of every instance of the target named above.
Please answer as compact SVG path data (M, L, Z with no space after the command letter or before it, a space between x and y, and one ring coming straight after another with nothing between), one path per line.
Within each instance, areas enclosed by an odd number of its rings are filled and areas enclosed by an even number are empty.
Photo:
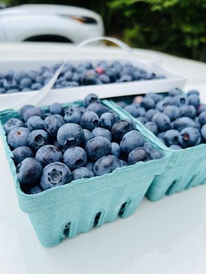
M185 149L206 142L206 104L198 90L187 94L172 88L168 95L148 93L133 103L117 102L170 149Z

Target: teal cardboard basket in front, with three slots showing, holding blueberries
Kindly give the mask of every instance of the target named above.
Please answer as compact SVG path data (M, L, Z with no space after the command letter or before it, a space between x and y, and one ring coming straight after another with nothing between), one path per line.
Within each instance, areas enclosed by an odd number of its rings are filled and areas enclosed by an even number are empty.
M122 119L128 118L122 110L113 108L110 102L104 100L103 103L117 112ZM16 115L17 112L14 110L0 112L1 122L5 123ZM138 124L137 129L141 132ZM165 157L124 166L100 177L78 179L37 195L27 195L21 191L12 152L0 123L0 134L13 175L19 206L29 214L42 245L53 247L65 237L72 238L80 232L88 232L93 227L115 221L118 216L126 217L133 214L155 175L163 173L170 160L170 151L159 146L156 140L150 140L150 136L145 135L144 131L142 133L148 142L152 142L154 147L163 151Z

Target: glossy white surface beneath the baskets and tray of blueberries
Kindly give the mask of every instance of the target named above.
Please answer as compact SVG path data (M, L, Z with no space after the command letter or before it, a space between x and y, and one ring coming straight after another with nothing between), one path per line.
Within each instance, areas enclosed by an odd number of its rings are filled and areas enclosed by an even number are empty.
M65 58L65 45L0 45L0 60ZM117 49L87 48L80 55ZM152 51L164 66L186 77L186 89L198 88L206 101L206 64ZM1 64L0 64L1 65ZM1 274L205 274L206 186L161 201L146 199L127 219L118 219L87 234L47 249L38 242L30 220L19 209L0 140Z

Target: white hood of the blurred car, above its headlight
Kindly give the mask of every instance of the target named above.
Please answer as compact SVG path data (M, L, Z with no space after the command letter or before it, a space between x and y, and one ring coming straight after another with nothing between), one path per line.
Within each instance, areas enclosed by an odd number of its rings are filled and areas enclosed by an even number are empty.
M70 5L19 5L14 8L1 10L1 14L61 14L71 16L91 16L100 19L100 15L84 8L77 8Z

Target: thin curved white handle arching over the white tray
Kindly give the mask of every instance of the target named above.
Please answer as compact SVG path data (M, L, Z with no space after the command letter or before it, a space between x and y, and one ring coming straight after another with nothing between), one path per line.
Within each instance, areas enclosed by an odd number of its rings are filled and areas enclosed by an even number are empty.
M69 61L69 58L71 58L71 56L74 53L76 53L78 51L78 49L80 49L81 47L84 47L85 45L88 45L91 42L95 42L95 41L99 41L99 40L108 40L110 42L113 42L114 44L116 44L117 46L119 46L121 49L123 49L123 51L126 51L126 53L135 55L135 53L133 52L133 50L128 45L126 45L124 42L122 42L121 40L119 40L117 38L108 37L108 36L100 36L100 37L95 37L95 38L90 38L90 39L84 40L83 42L80 42L75 47L75 49L73 49L69 53L67 59L59 67L59 69L56 71L56 73L54 74L54 76L52 77L52 79L50 79L49 82L43 88L41 88L41 90L39 90L38 93L36 93L33 97L30 97L29 99L25 99L24 101L21 101L21 103L17 103L15 105L13 105L12 108L14 110L19 110L20 108L23 107L23 105L27 105L28 103L32 103L32 105L38 105L38 103L43 98L45 98L49 92L51 92L52 86L54 86L54 83L58 79L58 76L60 75L60 72L62 71L62 69L65 66L65 64L67 64L67 62Z

